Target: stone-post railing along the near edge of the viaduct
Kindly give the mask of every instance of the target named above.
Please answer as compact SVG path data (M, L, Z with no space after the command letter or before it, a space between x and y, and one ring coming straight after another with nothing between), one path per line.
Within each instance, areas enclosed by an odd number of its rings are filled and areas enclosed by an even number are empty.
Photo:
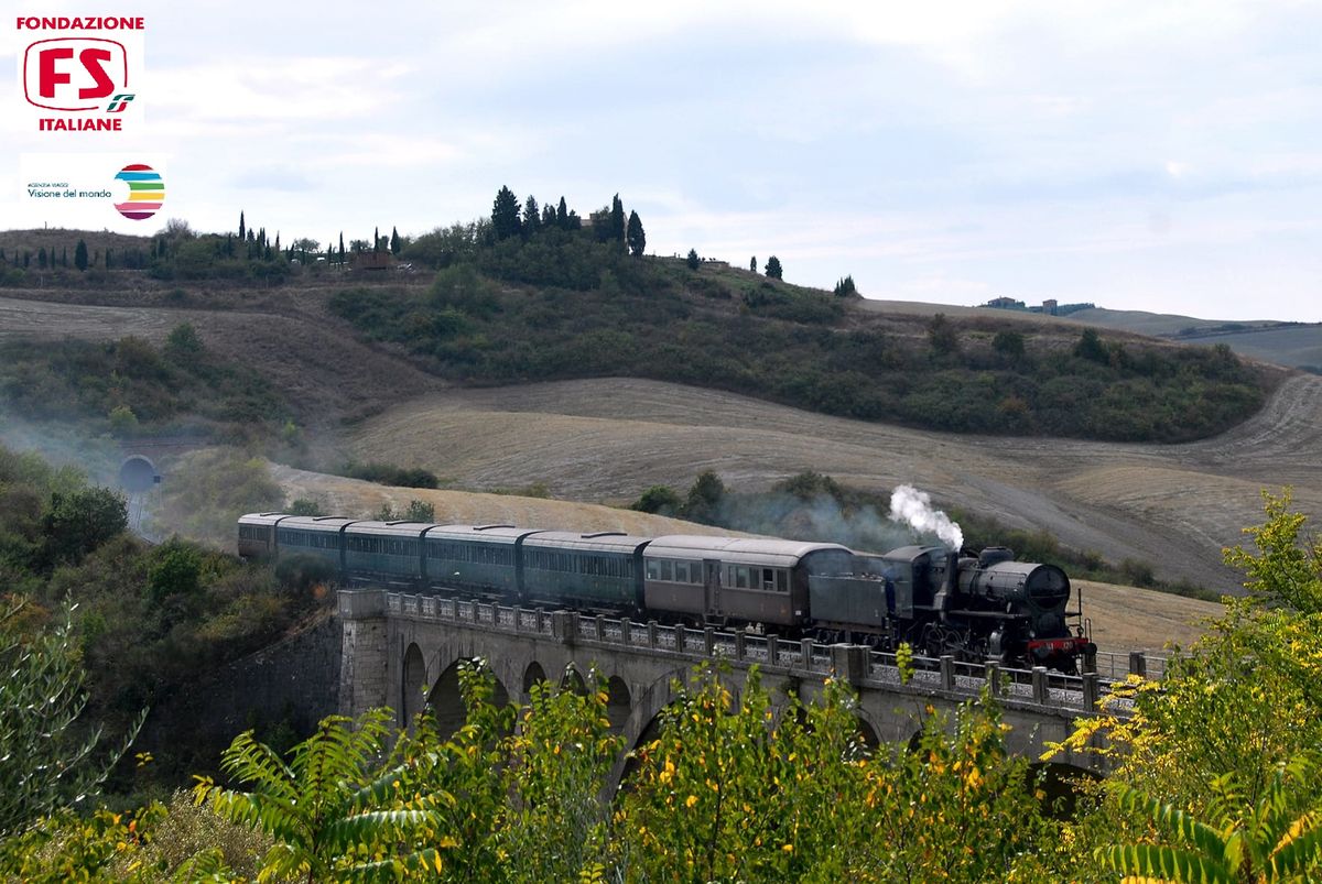
M724 658L759 663L767 669L837 674L876 686L902 682L896 655L858 645L824 645L810 638L791 640L750 630L726 632L715 628L691 629L657 621L584 616L571 610L516 608L494 603L444 596L386 593L386 613L419 621L451 621L506 632L550 637L567 642L588 642L628 647L640 653L678 654L689 658ZM1124 663L1121 666L1121 662ZM1003 667L997 662L974 663L953 657L914 658L910 686L921 691L941 691L976 696L985 686L1011 700L1063 710L1091 711L1110 686L1130 673L1161 678L1165 657L1141 653L1097 654L1097 671L1066 675L1046 667L1031 670Z

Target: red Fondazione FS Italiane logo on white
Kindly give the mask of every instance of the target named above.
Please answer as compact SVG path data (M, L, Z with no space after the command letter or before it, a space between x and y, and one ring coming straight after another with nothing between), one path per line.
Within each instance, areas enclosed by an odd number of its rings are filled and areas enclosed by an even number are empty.
M16 22L19 77L37 129L123 132L139 107L144 20L19 16Z

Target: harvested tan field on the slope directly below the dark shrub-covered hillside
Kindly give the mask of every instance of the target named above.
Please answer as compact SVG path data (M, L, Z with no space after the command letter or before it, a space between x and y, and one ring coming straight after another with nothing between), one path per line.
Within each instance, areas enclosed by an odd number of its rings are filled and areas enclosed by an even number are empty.
M910 482L1225 591L1236 575L1220 551L1261 521L1259 489L1292 485L1303 511L1322 514L1322 378L1311 375L1288 379L1240 427L1185 445L923 432L636 379L446 390L365 422L346 445L465 488L546 482L557 497L607 502L686 486L703 469L740 489L806 469L861 488Z

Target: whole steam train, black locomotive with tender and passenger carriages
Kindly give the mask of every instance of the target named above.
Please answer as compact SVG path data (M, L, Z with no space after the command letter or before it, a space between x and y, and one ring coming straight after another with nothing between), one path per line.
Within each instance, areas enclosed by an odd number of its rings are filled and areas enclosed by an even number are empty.
M345 584L444 588L502 604L760 626L886 650L910 642L932 657L1010 666L1072 673L1081 654L1096 650L1081 612L1067 610L1064 571L1014 562L1005 547L977 556L935 546L871 555L836 543L765 538L251 513L239 518L238 550L245 558L313 556Z

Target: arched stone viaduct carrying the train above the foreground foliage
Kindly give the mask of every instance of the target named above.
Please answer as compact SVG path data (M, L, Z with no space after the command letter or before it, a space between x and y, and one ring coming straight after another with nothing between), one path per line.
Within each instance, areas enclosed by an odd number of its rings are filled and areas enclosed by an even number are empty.
M1003 720L1013 728L1011 751L1032 758L1048 741L1063 740L1075 719L1092 714L1109 684L1097 673L1001 670L949 657L932 661L931 669L902 684L894 654L861 645L639 624L387 589L340 591L338 614L344 641L340 711L345 715L389 706L405 725L428 704L443 729L457 727L463 721L457 665L479 657L496 674L498 700L525 700L537 681L566 684L595 670L607 679L608 716L629 749L673 699L676 679L683 682L707 658L728 662L735 690L756 663L773 696L795 691L805 702L834 673L859 692L861 728L874 741L911 740L921 727L924 707L953 711L990 681L1001 694ZM1132 670L1145 665L1136 655L1129 661ZM1096 769L1092 756L1064 756L1058 762ZM623 769L624 758L613 781Z

